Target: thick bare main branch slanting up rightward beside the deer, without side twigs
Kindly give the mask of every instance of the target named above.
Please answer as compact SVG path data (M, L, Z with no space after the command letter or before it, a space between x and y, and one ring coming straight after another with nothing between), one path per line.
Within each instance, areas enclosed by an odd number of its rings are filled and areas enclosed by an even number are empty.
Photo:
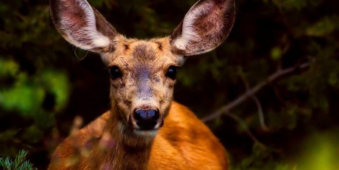
M307 67L310 66L311 62L312 62L312 60L309 61L309 62L306 62L306 63L302 63L302 64L298 64L298 65L295 65L295 66L292 66L292 67L288 67L288 68L285 68L285 69L279 69L275 73L268 76L268 78L266 80L259 82L258 84L256 84L256 86L254 86L252 89L248 90L243 95L239 96L238 98L236 98L232 102L222 106L220 109L218 109L217 111L213 112L212 114L202 118L201 120L204 121L204 122L207 122L207 121L210 121L210 120L213 120L213 119L219 117L220 115L222 115L224 113L229 112L231 109L235 108L236 106L239 106L241 103L246 101L253 94L256 94L259 90L261 90L263 87L265 87L269 82L277 80L278 78L285 76L287 74L290 74L290 73L292 73L296 70L307 68Z

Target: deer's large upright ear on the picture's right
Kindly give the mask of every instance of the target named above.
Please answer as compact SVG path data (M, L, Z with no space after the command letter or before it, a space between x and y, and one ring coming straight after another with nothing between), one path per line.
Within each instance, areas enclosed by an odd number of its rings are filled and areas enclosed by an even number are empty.
M173 31L173 50L191 56L209 52L227 37L234 23L235 0L200 0Z

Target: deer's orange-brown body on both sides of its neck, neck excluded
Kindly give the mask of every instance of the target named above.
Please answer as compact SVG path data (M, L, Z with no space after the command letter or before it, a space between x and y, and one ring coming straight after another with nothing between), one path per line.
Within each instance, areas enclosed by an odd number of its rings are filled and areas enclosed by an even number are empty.
M53 157L64 165L58 169L86 169L93 161L93 153L88 151L99 146L109 114L104 113L57 147ZM148 169L227 169L227 160L226 150L209 128L187 107L173 102L154 139Z

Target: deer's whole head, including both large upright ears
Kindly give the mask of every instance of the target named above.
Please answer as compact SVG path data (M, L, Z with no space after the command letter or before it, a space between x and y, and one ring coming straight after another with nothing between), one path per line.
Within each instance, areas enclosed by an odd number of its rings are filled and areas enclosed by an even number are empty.
M85 0L50 0L53 23L71 44L100 53L111 74L111 100L121 125L154 135L173 100L184 56L218 47L234 22L234 0L200 0L171 36L128 39Z

